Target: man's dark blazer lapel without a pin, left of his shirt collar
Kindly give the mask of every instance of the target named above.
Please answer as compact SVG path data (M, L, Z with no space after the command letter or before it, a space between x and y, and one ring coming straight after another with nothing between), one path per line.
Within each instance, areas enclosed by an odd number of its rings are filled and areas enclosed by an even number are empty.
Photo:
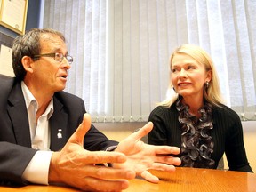
M12 88L7 110L12 121L17 144L31 148L28 113L20 83L15 84Z

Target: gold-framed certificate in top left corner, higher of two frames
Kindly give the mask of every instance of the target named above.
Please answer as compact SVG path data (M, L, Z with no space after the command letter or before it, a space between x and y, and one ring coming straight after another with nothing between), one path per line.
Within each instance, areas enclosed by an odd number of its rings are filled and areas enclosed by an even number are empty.
M28 0L1 0L0 25L18 34L24 34L27 11Z

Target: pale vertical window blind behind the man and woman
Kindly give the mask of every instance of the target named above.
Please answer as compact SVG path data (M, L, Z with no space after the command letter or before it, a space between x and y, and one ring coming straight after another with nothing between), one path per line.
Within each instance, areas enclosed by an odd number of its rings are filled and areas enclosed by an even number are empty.
M209 52L227 105L256 120L255 12L254 0L45 0L43 27L67 37L65 91L84 99L92 122L148 121L180 44Z

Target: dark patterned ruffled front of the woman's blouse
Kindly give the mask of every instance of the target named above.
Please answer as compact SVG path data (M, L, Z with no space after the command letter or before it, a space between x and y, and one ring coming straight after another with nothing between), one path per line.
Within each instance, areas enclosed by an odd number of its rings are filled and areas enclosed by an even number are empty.
M201 117L197 118L189 114L188 105L181 102L176 103L179 111L179 122L182 124L181 130L181 166L213 168L214 160L213 141L210 135L212 125L212 105L205 102L204 106L198 110Z

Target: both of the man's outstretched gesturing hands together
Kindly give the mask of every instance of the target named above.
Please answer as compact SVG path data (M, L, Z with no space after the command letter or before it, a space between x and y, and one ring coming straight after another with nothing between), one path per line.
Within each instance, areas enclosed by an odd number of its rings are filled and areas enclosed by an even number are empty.
M85 114L82 124L64 148L52 154L49 183L65 183L82 190L121 191L128 188L128 180L136 175L158 182L148 169L172 172L175 170L173 165L180 164L180 158L167 156L179 154L179 148L152 146L140 141L152 130L152 123L121 141L113 152L84 149L84 135L90 127L91 117ZM113 167L97 165L104 163L111 163Z

